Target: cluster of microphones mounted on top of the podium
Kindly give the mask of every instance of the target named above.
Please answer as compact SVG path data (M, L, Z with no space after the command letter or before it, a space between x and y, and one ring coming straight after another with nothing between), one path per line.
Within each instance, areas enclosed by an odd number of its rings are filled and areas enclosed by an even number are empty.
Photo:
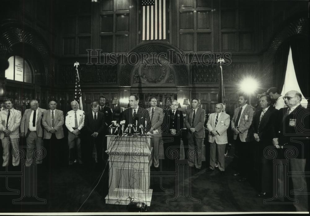
M143 119L143 117L141 119ZM147 126L147 119L144 119L145 128L143 127L142 124L140 124L139 129L137 128L138 120L139 119L136 118L134 120L134 124L130 123L127 126L125 126L125 123L126 123L125 120L122 120L118 123L117 123L117 121L112 121L111 125L108 127L108 129L111 129L110 134L114 134L117 136L128 136L128 135L135 135L135 134L143 135L143 134L145 134L145 129ZM114 133L113 133L113 127L116 127Z

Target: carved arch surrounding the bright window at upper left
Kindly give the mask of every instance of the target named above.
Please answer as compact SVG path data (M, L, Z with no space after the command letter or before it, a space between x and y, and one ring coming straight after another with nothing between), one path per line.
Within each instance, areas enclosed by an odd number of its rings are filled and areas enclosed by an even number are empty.
M7 58L15 54L17 47L23 47L25 52L28 50L33 54L32 60L35 60L33 75L36 77L36 84L53 84L55 68L54 64L51 64L53 59L45 39L27 24L19 22L3 24L0 30L0 55Z

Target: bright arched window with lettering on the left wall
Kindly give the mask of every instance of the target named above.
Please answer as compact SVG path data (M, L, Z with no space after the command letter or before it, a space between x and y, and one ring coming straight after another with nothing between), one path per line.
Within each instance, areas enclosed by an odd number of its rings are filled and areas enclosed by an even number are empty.
M8 62L9 67L5 71L5 77L7 77L7 79L25 83L33 83L33 69L30 62L17 55L11 56L8 59Z

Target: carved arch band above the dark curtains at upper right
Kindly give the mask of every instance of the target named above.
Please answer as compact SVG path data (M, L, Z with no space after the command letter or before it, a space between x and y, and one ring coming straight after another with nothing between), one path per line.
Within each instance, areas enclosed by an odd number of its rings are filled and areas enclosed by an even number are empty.
M289 37L298 34L309 34L309 20L307 17L298 17L290 19L282 28L282 30L276 34L268 50L263 55L263 71L265 74L271 75L272 73L272 60L276 54L278 48L286 41Z

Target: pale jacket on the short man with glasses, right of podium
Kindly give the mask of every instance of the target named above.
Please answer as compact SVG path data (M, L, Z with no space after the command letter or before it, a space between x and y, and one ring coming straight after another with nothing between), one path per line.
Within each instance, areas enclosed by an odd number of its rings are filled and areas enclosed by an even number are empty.
M230 116L222 112L215 127L216 115L217 113L211 113L209 115L207 122L207 128L209 131L208 142L213 143L215 141L216 144L226 144L228 143L227 129L229 127ZM212 130L218 132L218 135L212 136L210 133Z

